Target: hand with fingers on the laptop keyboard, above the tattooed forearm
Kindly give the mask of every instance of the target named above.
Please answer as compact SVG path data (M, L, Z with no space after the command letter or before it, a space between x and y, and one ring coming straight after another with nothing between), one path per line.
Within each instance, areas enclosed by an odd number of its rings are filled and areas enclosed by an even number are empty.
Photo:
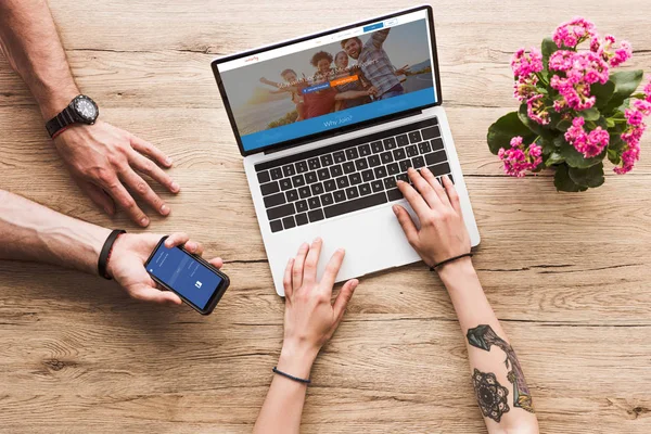
M452 181L445 176L443 177L445 188L442 187L425 167L420 174L409 168L408 174L416 190L404 181L398 181L398 189L418 216L420 229L417 229L404 207L394 205L393 209L409 244L430 267L450 257L469 253L470 237Z

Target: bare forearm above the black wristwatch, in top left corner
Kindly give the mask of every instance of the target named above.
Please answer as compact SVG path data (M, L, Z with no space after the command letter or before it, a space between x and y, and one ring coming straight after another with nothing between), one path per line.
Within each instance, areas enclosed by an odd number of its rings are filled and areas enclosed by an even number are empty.
M0 1L0 47L49 120L79 94L46 0Z

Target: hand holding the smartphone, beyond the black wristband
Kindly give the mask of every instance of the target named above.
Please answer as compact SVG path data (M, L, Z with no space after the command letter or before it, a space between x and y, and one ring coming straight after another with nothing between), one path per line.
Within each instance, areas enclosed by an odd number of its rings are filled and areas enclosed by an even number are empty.
M120 235L113 245L106 271L133 298L180 305L181 298L170 291L162 291L144 269L144 263L162 238L163 235L153 233ZM190 241L184 233L173 233L165 240L165 246L168 248L183 244L189 253L199 256L203 254L203 246L195 241ZM214 258L208 263L217 268L224 265L221 258Z

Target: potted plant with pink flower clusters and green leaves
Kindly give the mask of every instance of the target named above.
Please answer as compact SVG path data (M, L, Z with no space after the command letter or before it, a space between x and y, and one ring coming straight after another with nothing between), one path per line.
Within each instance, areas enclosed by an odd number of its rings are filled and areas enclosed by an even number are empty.
M518 112L488 128L488 148L505 173L523 177L556 168L559 191L603 183L603 159L623 175L640 157L644 116L651 114L651 82L634 93L642 71L613 72L633 55L630 44L600 38L584 18L561 24L541 50L513 54Z

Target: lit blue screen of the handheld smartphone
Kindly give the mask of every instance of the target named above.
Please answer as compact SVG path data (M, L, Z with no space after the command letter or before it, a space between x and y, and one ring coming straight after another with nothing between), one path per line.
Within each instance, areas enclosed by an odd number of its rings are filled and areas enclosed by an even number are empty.
M205 309L224 279L178 247L161 243L146 265L150 273L171 288L199 309Z

